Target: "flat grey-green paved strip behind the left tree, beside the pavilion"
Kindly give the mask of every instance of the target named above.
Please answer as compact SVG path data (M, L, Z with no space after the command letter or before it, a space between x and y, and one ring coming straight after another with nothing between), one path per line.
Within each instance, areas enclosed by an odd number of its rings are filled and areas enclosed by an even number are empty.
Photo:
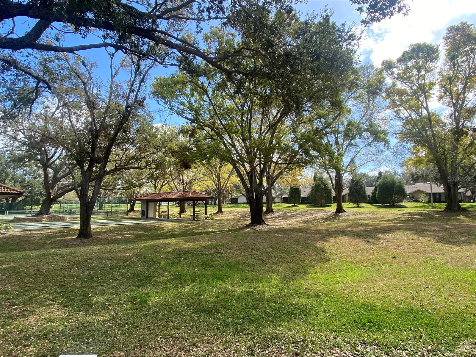
M192 222L190 219L178 218L122 218L122 219L97 219L91 221L91 227L94 226L119 226L126 224L144 224L157 222ZM13 230L38 230L54 228L75 228L79 227L78 221L69 222L39 222L39 223L11 223Z

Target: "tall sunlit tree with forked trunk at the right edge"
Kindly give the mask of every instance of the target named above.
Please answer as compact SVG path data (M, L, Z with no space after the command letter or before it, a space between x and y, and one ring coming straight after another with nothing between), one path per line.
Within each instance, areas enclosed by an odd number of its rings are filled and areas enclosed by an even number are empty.
M428 155L444 184L448 211L462 210L457 202L458 183L466 176L476 151L476 28L465 21L446 29L445 56L439 47L415 43L396 61L382 67L390 81L385 90L389 108L401 123L399 139ZM428 103L437 101L435 110Z

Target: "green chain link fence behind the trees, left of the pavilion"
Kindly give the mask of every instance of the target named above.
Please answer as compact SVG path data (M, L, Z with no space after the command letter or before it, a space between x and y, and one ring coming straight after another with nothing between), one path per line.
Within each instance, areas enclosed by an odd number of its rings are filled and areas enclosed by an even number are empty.
M43 196L24 195L23 199L0 202L0 215L4 218L13 216L30 216L40 211ZM128 215L129 200L127 197L98 198L92 212L93 216ZM79 200L60 198L53 202L51 214L61 214L79 217Z

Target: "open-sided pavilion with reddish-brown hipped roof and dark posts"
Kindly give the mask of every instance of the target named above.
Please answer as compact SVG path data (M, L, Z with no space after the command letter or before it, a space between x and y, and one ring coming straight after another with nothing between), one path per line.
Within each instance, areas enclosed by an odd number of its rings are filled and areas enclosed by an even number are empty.
M157 217L157 202L167 202L167 218L170 216L170 202L193 202L193 212L191 218L196 219L195 206L197 202L205 204L205 219L207 219L207 200L214 198L213 196L201 193L195 190L175 191L175 192L161 192L161 193L147 193L140 197L134 198L135 201L141 202L140 218L156 218ZM160 208L159 208L160 210ZM159 217L165 215L165 211L159 212ZM182 214L178 213L178 217L182 218Z

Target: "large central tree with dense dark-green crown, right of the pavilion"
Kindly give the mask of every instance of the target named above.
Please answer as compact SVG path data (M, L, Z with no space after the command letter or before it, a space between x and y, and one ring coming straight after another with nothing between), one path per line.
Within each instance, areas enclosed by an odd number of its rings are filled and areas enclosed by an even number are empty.
M357 38L327 10L302 21L293 11L258 6L238 10L236 19L236 33L212 28L205 41L210 53L247 49L249 60L231 56L222 63L249 75L233 81L203 62L193 74L156 78L152 96L221 145L223 159L260 206L266 187L311 161L311 144L319 146L324 127L313 126L307 110L310 103L342 106ZM264 223L260 212L250 207L252 224Z

